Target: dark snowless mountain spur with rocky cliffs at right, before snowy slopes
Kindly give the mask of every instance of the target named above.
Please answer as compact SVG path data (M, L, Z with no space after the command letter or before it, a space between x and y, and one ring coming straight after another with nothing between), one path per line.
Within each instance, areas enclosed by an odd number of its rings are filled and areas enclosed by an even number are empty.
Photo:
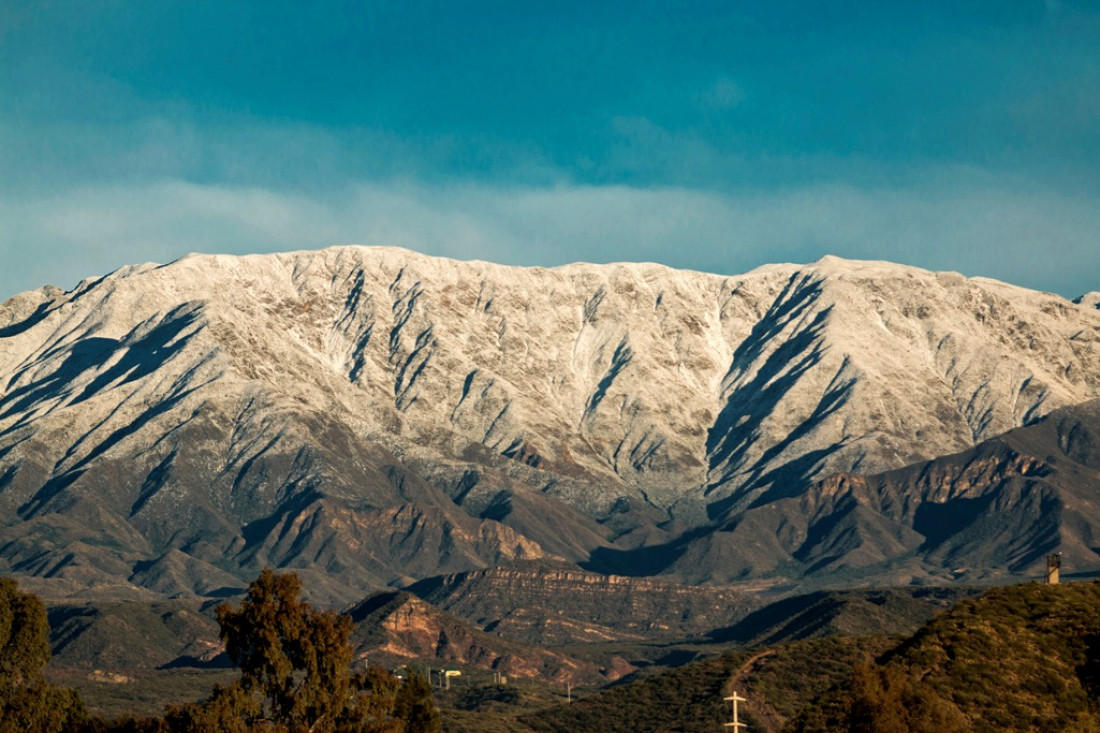
M836 473L761 499L717 530L650 548L696 581L778 575L834 586L1040 577L1049 553L1100 571L1100 402L970 450L873 475ZM613 561L626 555L604 553ZM612 566L614 567L614 566Z

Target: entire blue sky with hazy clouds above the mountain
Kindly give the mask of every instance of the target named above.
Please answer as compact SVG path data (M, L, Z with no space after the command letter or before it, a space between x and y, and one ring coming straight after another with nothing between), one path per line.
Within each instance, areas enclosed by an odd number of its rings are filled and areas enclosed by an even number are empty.
M1100 289L1100 2L0 0L0 298L191 251Z

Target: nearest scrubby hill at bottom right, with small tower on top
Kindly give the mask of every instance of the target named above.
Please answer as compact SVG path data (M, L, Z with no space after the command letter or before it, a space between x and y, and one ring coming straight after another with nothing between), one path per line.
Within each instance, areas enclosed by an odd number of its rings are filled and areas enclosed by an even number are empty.
M1100 583L1030 583L963 601L791 730L853 721L861 730L1100 730Z

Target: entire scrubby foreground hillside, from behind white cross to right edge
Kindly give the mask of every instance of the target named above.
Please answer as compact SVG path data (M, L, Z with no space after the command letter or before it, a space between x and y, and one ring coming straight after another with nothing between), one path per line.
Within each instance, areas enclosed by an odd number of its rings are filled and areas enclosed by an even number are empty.
M722 698L737 690L749 731L1094 731L1098 639L1100 582L994 588L904 639L730 652L519 720L576 733L721 730Z

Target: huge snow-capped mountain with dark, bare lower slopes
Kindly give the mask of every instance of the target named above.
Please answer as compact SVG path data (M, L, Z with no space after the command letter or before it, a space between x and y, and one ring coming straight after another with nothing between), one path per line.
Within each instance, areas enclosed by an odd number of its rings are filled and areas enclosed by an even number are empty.
M730 277L353 247L125 267L0 305L0 569L148 597L292 567L350 602L516 559L871 567L927 523L887 497L845 514L815 482L1096 398L1098 357L1084 299L832 258ZM798 541L839 536L829 507L865 538L848 559ZM1035 541L980 561L1025 571Z

